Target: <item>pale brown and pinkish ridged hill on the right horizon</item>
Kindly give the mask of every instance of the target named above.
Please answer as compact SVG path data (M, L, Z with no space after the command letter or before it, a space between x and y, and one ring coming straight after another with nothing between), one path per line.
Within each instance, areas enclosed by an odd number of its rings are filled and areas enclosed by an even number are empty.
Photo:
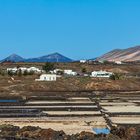
M97 60L140 61L140 46L128 49L115 49L98 57Z

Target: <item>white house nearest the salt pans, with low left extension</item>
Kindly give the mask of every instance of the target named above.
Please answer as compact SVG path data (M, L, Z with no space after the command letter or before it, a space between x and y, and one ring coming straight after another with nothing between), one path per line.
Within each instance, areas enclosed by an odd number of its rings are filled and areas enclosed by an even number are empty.
M42 74L39 79L35 79L35 81L56 81L56 74Z

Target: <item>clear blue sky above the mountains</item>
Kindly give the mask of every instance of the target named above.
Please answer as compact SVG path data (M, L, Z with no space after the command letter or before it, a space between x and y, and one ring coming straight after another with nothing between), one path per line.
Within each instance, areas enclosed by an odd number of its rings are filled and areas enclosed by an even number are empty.
M0 0L0 59L94 58L140 44L140 0Z

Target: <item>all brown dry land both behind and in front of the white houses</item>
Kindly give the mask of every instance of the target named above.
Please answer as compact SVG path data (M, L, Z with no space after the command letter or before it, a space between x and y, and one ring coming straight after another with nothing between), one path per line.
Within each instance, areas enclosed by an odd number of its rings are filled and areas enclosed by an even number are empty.
M1 65L1 69L14 66L37 66L42 67L43 63L36 64L8 64ZM73 69L80 72L86 68L87 72L93 70L107 70L119 74L140 73L140 65L88 65L80 63L56 63L56 68ZM56 82L35 82L38 75L15 76L15 81L11 81L10 76L0 76L0 91L2 93L28 94L33 91L80 91L80 90L140 90L140 78L123 78L119 80L110 80L104 78L90 77L62 77Z

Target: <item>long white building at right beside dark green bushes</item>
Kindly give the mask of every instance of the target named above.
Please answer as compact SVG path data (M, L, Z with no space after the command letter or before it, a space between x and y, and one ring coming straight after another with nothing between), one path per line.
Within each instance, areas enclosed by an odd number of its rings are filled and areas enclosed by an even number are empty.
M93 71L91 73L91 77L109 78L111 75L113 75L113 73L112 72L107 72L107 71Z

